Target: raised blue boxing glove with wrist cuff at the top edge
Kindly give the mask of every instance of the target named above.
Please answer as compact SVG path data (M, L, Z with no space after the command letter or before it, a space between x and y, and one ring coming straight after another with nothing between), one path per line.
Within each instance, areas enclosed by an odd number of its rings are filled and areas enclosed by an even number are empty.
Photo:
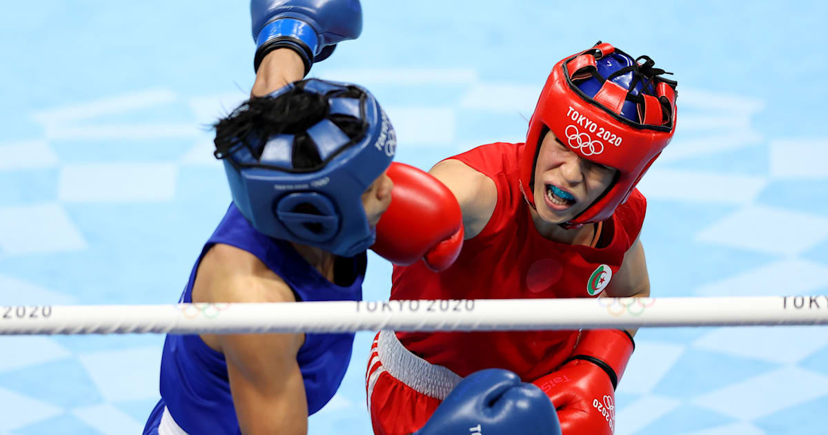
M310 65L330 56L339 41L362 32L359 0L251 0L250 17L255 70L267 53L286 47L301 56L307 75Z

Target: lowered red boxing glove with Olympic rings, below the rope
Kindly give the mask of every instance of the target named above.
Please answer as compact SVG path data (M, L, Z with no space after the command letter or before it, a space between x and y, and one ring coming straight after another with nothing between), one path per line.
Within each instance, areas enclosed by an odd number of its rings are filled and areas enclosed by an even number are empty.
M561 368L535 380L555 408L563 435L612 435L615 387L635 343L627 331L581 331L572 356Z

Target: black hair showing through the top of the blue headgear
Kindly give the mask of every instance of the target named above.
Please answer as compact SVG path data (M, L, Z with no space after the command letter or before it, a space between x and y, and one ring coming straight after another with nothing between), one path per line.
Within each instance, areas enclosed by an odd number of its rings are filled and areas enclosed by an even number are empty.
M323 163L307 129L329 118L348 138L354 140L364 131L363 123L348 115L329 115L328 97L305 92L307 80L294 83L294 88L277 97L253 97L238 106L228 116L213 124L215 128L215 157L224 158L238 146L248 147L257 159L267 138L276 134L292 134L293 169L311 170ZM363 91L349 86L347 90L335 90L336 96L361 98ZM232 160L232 159L231 159Z

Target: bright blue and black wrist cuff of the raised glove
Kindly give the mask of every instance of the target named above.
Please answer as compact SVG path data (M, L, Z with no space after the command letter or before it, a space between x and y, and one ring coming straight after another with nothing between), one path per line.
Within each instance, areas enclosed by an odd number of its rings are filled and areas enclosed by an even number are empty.
M268 22L256 37L256 56L253 69L258 71L264 56L277 48L290 48L296 51L305 64L305 74L310 71L313 59L320 46L319 36L307 22L292 17L277 18Z

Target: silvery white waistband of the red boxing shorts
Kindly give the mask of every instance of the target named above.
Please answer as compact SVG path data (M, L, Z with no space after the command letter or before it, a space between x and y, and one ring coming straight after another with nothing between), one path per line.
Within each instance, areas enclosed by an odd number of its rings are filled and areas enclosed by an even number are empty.
M383 369L417 393L443 400L463 378L412 354L393 331L380 331L377 353Z

